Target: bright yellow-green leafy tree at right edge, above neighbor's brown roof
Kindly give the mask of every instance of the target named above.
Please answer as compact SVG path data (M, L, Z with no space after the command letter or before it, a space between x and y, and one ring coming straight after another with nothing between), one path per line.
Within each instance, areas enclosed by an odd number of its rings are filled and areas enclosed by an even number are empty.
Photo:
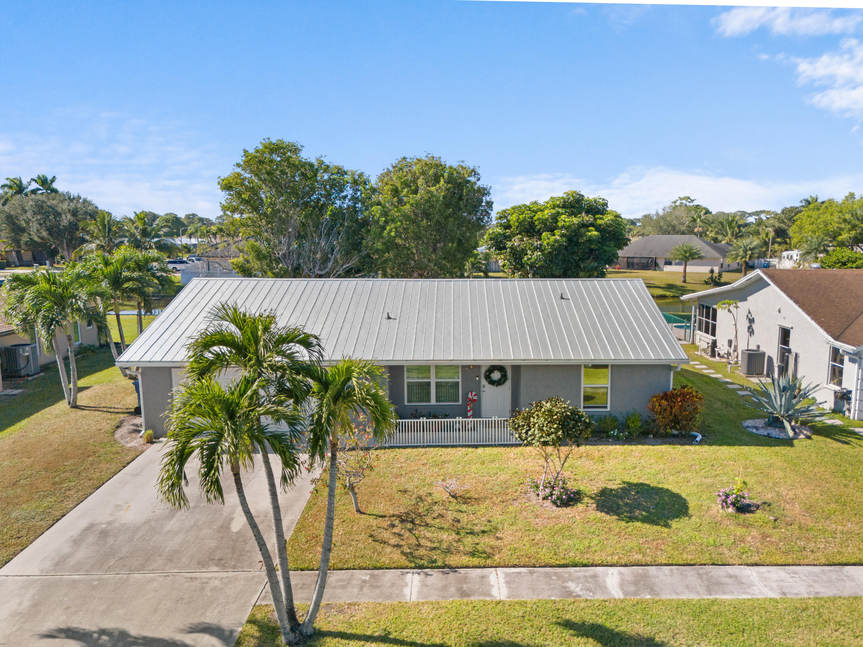
M799 248L808 236L826 236L836 247L863 252L863 196L848 193L841 201L818 197L803 205L791 226L791 242Z

